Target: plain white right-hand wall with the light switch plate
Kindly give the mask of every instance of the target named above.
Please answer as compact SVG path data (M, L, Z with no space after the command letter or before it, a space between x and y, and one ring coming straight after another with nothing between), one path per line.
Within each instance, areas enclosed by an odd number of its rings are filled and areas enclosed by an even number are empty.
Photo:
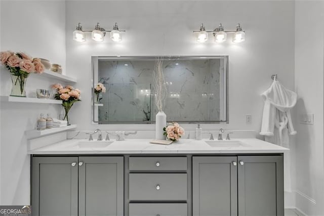
M295 20L297 117L314 114L314 125L296 125L296 207L323 215L324 2L296 1Z

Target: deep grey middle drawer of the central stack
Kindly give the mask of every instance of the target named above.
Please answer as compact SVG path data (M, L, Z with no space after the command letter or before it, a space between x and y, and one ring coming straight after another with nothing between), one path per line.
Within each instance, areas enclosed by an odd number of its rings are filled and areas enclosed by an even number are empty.
M187 200L186 173L130 173L130 200Z

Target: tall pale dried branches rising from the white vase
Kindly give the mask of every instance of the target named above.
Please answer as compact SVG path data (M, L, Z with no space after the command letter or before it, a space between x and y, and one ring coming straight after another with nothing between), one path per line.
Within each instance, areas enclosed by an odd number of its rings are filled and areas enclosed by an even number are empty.
M153 70L153 85L156 90L155 105L159 112L162 112L167 99L167 86L163 73L163 57L157 57Z

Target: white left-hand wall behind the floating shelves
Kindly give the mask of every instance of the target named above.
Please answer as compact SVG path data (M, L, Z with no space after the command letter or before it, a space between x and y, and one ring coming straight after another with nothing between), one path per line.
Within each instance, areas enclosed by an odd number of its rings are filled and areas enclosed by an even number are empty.
M65 1L1 1L0 50L27 52L65 68ZM27 94L49 88L55 80L31 75ZM9 71L1 67L1 95L9 95ZM56 117L60 105L2 102L1 118L1 205L29 204L30 160L24 131L33 129L40 113Z

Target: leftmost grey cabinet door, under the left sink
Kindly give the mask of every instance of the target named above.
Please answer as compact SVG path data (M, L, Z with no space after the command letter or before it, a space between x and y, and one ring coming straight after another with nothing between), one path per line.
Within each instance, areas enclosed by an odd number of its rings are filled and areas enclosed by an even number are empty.
M32 158L33 215L77 215L77 159Z

